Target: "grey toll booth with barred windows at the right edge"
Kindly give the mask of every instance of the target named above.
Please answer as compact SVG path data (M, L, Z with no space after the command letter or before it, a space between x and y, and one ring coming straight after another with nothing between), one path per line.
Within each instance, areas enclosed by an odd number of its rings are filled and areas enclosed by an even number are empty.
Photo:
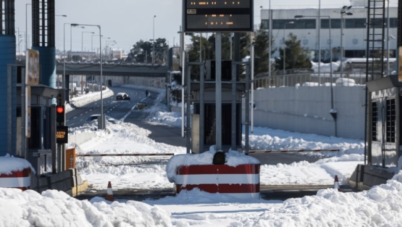
M366 85L367 163L383 168L398 166L402 155L402 82L398 81L398 75L390 75L368 81Z

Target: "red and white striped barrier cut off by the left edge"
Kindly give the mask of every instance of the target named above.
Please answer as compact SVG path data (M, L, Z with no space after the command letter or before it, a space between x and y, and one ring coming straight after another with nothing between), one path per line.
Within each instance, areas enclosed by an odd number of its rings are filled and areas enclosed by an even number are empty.
M31 187L31 168L12 171L11 174L0 174L0 187L27 190Z

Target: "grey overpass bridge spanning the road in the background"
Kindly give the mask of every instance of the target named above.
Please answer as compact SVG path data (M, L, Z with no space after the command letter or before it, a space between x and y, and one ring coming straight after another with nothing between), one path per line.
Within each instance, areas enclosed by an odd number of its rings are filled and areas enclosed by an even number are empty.
M165 77L166 64L103 63L104 76L148 76ZM56 62L56 74L63 75L64 63ZM66 75L100 75L100 63L66 62Z

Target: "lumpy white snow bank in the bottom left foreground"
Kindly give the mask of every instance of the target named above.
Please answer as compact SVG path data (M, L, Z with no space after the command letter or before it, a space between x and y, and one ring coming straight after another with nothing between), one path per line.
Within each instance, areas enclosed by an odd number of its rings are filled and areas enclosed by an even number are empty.
M79 201L62 191L0 188L0 226L172 226L157 206L96 197Z

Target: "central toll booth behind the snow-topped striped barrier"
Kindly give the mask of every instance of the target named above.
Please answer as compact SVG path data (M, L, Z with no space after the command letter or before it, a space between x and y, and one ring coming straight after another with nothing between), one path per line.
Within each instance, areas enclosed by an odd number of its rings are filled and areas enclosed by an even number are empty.
M242 97L246 93L246 82L239 80L237 72L241 63L222 61L221 75L221 145L227 152L235 148L242 152ZM199 77L192 68L199 67ZM246 66L248 68L248 66ZM216 144L216 82L215 60L206 63L188 63L187 73L191 80L191 151L203 153ZM249 73L248 70L246 70ZM195 78L194 78L195 77ZM197 78L198 77L198 78ZM248 76L247 76L248 77ZM234 78L234 79L232 79ZM187 80L189 77L187 77ZM188 93L188 91L187 91ZM189 113L187 113L187 116Z

